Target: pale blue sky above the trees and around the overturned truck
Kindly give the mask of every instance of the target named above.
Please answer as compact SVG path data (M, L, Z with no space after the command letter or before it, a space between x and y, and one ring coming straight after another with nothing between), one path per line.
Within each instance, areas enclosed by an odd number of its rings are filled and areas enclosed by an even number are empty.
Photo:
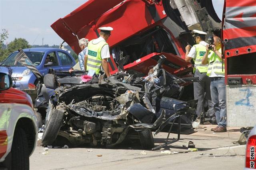
M8 30L7 43L14 38L24 38L30 45L59 45L62 39L50 25L85 2L86 0L0 0L0 30ZM221 19L224 0L212 2Z

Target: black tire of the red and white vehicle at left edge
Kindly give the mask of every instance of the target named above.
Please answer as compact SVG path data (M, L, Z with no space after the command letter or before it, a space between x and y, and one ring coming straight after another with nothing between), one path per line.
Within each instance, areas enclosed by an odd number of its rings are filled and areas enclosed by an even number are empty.
M22 128L16 128L12 141L12 170L29 170L28 140Z

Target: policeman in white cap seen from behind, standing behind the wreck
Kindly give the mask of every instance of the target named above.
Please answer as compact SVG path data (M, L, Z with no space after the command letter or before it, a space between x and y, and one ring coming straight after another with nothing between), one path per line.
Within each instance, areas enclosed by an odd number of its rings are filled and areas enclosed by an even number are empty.
M106 42L110 37L112 27L101 27L100 37L91 40L88 43L88 50L84 56L84 69L88 70L88 75L99 74L100 70L104 70L107 77L110 76L108 69L108 58L110 58L109 46Z

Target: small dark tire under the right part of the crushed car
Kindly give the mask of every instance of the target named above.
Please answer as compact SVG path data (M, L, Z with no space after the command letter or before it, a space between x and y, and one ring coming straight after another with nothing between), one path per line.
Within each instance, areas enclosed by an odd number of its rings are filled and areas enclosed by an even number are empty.
M152 132L149 128L138 131L140 137L140 143L143 149L152 149L154 148L154 139Z

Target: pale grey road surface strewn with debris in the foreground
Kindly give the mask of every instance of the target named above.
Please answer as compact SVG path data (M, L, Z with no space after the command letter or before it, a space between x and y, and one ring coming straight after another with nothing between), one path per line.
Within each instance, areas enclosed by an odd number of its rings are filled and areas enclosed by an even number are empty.
M244 167L245 145L234 145L238 140L239 128L230 132L214 133L212 126L190 135L181 135L179 142L160 150L141 150L138 143L123 144L113 149L106 148L52 148L48 154L42 146L37 146L30 156L31 170L87 170L87 169L174 169L174 170L227 170ZM204 128L206 127L206 128ZM206 130L205 130L206 129ZM167 133L154 136L156 145L164 142ZM228 137L229 136L229 137ZM171 138L176 137L172 134ZM187 152L188 141L193 141L197 152ZM230 146L230 147L229 147ZM161 152L168 153L161 153ZM178 152L174 154L175 152ZM143 154L146 153L146 154ZM97 156L98 155L98 156ZM102 156L100 156L102 155Z

